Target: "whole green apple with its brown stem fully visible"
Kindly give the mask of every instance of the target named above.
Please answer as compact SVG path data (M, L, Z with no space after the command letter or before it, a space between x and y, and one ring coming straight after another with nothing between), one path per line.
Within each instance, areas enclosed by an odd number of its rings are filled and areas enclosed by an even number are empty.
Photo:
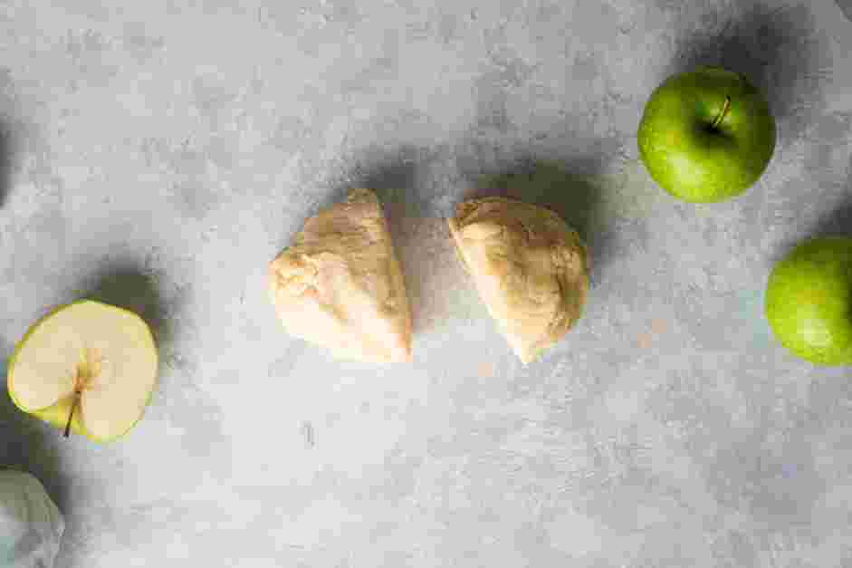
M702 67L669 77L648 100L639 153L657 184L696 203L742 194L775 150L769 104L742 75Z

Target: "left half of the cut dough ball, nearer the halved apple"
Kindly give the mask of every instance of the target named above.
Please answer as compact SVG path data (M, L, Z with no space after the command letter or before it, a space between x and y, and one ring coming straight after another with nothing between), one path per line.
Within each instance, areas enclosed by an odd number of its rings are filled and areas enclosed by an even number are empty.
M353 189L311 217L270 265L284 327L340 359L411 359L406 284L378 198Z

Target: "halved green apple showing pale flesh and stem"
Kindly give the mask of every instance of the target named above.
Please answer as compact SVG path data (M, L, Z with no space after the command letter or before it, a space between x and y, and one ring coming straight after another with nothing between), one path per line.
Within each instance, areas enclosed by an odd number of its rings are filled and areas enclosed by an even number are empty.
M36 322L9 361L15 406L95 441L120 438L142 418L158 353L139 315L83 300Z

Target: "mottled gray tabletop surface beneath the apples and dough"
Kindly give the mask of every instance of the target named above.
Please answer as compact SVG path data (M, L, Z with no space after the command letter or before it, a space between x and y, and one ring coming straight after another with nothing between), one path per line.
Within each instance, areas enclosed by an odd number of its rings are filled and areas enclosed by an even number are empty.
M852 23L832 0L0 3L0 359L82 295L158 334L129 438L0 399L0 459L68 520L60 566L852 566L852 381L773 341L772 263L849 231ZM771 100L761 182L675 202L648 94L723 63ZM378 188L415 361L290 339L266 265ZM593 255L577 328L514 359L442 216L492 189Z

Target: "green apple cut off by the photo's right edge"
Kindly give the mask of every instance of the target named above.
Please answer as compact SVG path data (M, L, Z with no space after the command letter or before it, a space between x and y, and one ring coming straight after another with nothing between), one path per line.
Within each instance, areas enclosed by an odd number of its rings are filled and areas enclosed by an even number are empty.
M822 365L852 365L852 238L812 239L772 269L766 317L790 351Z

